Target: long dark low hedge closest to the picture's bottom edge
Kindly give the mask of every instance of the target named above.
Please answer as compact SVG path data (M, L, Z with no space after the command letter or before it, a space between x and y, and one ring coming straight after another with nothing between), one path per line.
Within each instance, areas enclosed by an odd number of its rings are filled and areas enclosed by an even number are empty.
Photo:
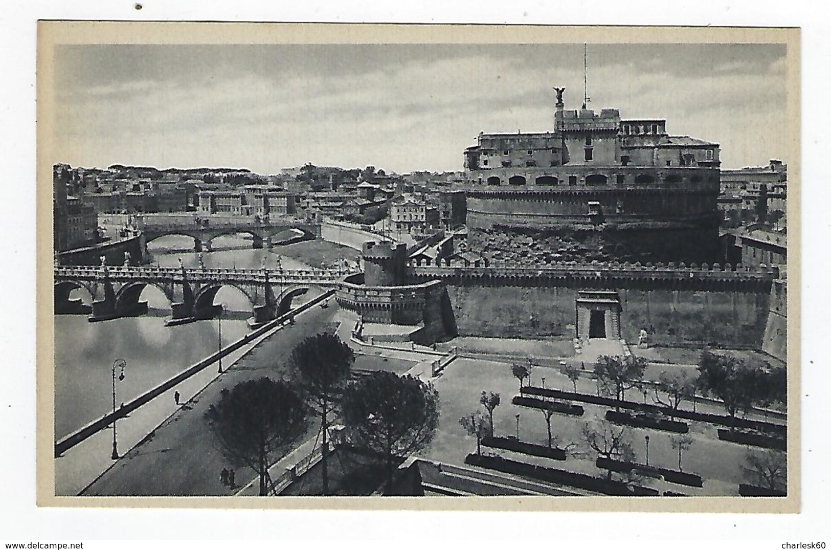
M525 464L516 460L503 459L498 456L484 456L479 454L468 454L465 464L480 466L482 468L495 469L506 474L522 475L528 478L548 481L549 483L586 489L595 493L611 494L618 496L659 496L655 489L640 487L638 485L627 486L619 481L610 479L595 478L591 475L568 472L563 469L545 468L534 464Z

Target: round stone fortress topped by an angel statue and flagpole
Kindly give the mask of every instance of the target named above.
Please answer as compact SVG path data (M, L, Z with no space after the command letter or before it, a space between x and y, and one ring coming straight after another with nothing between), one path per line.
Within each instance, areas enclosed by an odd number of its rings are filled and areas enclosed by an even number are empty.
M465 150L471 247L508 263L715 261L719 145L566 110L554 90L553 130L481 133Z

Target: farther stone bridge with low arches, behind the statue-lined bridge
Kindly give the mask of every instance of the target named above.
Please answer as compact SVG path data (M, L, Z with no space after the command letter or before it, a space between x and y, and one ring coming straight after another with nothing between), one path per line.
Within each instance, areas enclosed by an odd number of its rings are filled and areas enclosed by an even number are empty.
M165 235L184 235L194 239L194 251L210 252L211 241L223 235L248 233L253 248L269 248L271 239L288 229L299 229L312 238L320 237L320 223L285 216L271 219L215 218L189 215L154 215L137 219L137 228L145 235L145 243Z

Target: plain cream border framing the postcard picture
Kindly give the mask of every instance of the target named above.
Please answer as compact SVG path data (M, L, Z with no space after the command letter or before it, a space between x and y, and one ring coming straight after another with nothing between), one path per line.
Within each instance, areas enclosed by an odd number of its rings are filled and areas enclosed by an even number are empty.
M53 48L60 44L778 43L786 45L789 150L788 496L750 497L58 497L54 477ZM248 22L41 21L37 27L37 504L114 508L317 508L798 513L800 510L800 35L798 28ZM764 136L760 136L763 138Z

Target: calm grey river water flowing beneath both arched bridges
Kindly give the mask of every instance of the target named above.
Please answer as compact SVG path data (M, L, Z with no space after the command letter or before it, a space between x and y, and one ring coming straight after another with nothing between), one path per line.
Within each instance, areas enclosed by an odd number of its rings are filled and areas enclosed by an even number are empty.
M215 238L214 252L202 253L206 268L284 269L308 268L292 258L266 249L253 249L243 236ZM193 239L170 236L148 245L152 263L185 268L199 265ZM278 288L275 288L278 292ZM81 289L71 297L85 303L91 297ZM143 317L87 322L86 315L55 316L55 438L62 439L112 410L111 368L116 359L127 363L124 380L116 378L116 404L126 403L155 385L170 379L219 348L219 320L165 327L170 302L155 287L145 287L141 300L150 312ZM248 298L234 287L223 287L214 303L222 303L222 340L228 344L242 337L251 317ZM118 375L119 372L116 372Z

